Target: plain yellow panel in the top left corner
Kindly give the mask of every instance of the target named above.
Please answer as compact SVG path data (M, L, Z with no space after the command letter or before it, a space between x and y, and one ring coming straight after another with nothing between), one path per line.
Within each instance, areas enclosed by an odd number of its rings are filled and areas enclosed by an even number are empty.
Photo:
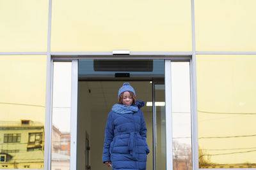
M46 52L48 6L49 1L1 0L0 52Z

